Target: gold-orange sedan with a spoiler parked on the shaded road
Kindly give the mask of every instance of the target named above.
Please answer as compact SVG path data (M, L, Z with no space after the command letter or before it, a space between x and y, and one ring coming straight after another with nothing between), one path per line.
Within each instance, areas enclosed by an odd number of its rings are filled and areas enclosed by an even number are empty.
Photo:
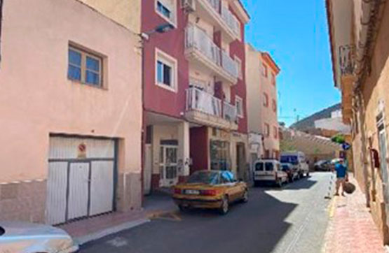
M175 186L173 199L179 210L218 209L225 215L231 203L248 201L248 187L230 171L196 171L187 182Z

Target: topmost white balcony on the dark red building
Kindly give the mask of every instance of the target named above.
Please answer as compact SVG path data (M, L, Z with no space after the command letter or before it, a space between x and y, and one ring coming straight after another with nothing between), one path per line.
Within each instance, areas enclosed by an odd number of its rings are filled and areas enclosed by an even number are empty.
M240 40L240 23L220 0L197 0L196 14L221 31L227 43Z

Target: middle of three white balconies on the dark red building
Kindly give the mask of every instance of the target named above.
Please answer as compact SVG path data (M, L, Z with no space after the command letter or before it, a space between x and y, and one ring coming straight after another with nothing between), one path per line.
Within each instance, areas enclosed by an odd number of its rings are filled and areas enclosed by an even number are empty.
M186 27L185 55L200 68L212 70L219 80L235 85L238 81L238 64L221 50L196 26Z

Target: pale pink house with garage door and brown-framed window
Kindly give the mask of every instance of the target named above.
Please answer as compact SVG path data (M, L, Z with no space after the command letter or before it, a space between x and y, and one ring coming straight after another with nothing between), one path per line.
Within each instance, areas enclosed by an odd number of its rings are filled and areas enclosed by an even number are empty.
M3 3L0 219L61 224L140 208L133 18L121 25L76 0Z

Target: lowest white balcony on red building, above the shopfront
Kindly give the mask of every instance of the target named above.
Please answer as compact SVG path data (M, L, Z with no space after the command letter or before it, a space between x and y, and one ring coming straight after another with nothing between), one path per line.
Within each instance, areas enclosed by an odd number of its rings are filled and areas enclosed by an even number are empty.
M236 106L194 87L186 90L185 117L210 127L238 129Z

